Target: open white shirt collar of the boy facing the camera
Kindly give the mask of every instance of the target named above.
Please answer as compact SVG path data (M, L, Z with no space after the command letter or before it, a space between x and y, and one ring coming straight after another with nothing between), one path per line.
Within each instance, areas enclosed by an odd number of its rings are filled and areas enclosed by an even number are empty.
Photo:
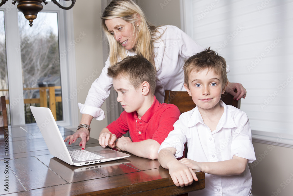
M227 105L220 100L220 105L224 108L224 112L222 114L222 117L219 120L219 123L217 125L217 128L215 130L216 133L219 130L221 130L222 128L234 128L236 127L236 124L231 116L231 111L229 110L229 108L227 107ZM198 110L197 106L195 108L193 108L192 110L192 114L190 117L190 121L188 123L188 127L193 127L195 126L197 123L202 123L205 124L203 122L202 116L200 114L200 111Z

